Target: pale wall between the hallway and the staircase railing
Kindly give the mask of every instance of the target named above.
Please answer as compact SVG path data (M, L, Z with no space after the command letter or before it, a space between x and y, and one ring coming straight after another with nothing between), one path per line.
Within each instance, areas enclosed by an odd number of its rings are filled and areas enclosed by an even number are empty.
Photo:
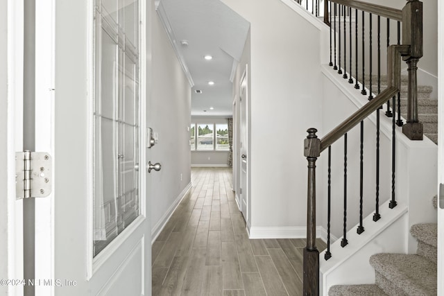
M223 3L251 24L250 231L305 227L303 140L321 126L321 31L281 1Z

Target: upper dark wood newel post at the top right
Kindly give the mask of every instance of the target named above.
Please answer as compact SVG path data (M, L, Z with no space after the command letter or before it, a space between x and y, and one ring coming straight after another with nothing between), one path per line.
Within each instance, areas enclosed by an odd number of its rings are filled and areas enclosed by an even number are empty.
M407 97L407 124L402 132L411 140L422 140L422 123L418 120L418 78L417 64L422 57L422 2L408 0L402 9L402 44L409 45L409 55L402 59L407 62L409 87Z

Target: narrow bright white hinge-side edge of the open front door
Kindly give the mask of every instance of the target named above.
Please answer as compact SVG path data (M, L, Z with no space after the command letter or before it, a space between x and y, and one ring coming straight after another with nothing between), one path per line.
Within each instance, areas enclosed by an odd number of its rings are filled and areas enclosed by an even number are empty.
M35 150L53 159L51 194L35 202L35 279L55 277L55 58L56 0L35 3ZM49 116L47 116L49 114ZM54 286L35 286L35 295L54 295Z

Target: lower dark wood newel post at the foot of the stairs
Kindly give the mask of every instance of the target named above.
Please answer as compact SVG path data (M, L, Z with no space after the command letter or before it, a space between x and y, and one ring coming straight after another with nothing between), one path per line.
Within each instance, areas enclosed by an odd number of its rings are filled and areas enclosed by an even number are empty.
M308 161L307 246L304 249L304 295L319 295L319 251L316 249L316 159L321 154L321 141L316 128L307 130L304 156Z

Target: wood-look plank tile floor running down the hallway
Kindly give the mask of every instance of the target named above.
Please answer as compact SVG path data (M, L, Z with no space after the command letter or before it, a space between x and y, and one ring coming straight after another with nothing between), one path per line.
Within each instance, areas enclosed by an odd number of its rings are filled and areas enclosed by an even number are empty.
M191 192L153 244L153 295L302 295L305 239L249 239L231 172L191 170Z

